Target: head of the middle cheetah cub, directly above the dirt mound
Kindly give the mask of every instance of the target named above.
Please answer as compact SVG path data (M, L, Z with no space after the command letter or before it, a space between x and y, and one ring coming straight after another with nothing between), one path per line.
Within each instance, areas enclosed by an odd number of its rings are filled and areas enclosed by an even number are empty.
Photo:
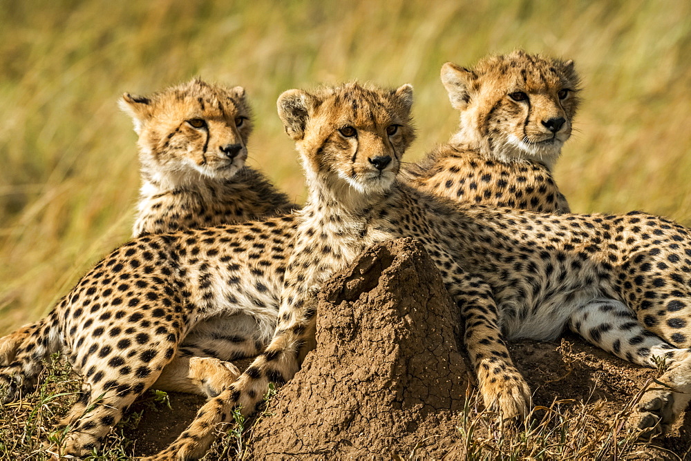
M382 90L352 82L312 92L288 90L277 105L307 180L344 193L388 190L415 138L410 85Z

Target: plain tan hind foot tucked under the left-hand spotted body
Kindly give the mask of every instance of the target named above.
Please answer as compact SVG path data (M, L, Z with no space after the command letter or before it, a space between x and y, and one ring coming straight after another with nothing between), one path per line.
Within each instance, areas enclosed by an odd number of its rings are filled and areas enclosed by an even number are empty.
M183 357L178 355L167 364L153 389L186 392L216 397L240 376L240 370L230 362L214 357Z

